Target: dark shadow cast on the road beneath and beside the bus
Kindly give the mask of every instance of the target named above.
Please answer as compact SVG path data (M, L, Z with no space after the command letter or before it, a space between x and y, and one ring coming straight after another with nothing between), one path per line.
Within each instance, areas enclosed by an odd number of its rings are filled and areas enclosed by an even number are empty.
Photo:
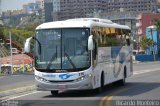
M156 82L128 82L125 86L119 86L117 83L109 84L104 87L101 93L95 90L85 91L67 91L61 92L59 95L48 95L43 98L68 98L68 97L103 97L103 96L136 96L147 93L160 87L160 83Z

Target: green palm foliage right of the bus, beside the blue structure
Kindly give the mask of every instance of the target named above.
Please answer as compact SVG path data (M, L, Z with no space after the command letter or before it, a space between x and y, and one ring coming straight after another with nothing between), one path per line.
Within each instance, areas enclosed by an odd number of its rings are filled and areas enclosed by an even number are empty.
M145 50L148 47L154 45L154 41L152 39L143 37L142 40L140 41L140 45Z

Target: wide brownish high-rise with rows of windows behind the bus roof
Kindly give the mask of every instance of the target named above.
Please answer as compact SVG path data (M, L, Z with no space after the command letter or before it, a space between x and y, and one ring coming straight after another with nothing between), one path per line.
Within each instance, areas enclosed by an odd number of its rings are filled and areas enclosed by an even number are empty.
M155 13L157 0L60 0L59 20L97 17L99 13L128 12ZM112 15L112 14L111 14Z

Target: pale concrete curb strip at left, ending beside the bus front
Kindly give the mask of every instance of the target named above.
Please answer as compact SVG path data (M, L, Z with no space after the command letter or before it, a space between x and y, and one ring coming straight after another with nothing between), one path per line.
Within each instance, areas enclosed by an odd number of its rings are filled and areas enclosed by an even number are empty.
M0 92L0 98L5 97L5 96L18 94L18 93L27 92L27 91L33 91L33 90L36 90L35 85L26 86L26 87L19 87L16 89L10 89L10 90Z

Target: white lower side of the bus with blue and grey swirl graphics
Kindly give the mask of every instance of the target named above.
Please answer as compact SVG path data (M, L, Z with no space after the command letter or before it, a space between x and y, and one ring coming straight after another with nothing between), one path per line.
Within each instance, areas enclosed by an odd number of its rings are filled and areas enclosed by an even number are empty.
M104 71L105 84L115 82L123 78L124 67L129 77L132 75L132 60L130 49L127 46L100 47L98 48L97 69L100 73ZM99 81L100 82L100 81Z

